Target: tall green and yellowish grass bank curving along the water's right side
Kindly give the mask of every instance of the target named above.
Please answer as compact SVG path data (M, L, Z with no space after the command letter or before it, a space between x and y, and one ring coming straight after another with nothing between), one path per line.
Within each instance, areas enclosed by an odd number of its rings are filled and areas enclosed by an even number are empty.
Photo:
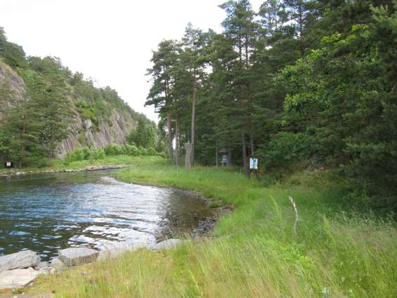
M396 226L346 209L344 191L323 173L265 188L232 171L152 161L121 170L119 178L202 191L235 210L217 224L215 238L46 276L34 291L92 298L397 297ZM296 235L288 196L300 212Z

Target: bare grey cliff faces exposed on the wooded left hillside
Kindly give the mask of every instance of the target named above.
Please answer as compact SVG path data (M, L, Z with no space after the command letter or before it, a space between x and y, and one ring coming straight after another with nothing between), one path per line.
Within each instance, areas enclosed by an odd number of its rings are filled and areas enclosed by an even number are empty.
M70 94L68 104L72 110L72 116L68 119L68 137L62 140L55 156L64 157L67 152L73 151L76 147L94 146L105 147L108 144L125 144L126 135L136 127L137 116L142 116L129 107L121 99L120 102L113 104L106 103L107 115L95 115L93 120L87 117L76 105L76 102L84 100L83 96L77 95L73 86L68 86ZM0 124L5 121L6 111L17 108L23 102L29 100L27 95L27 84L24 79L17 74L0 58ZM114 100L114 99L113 99Z

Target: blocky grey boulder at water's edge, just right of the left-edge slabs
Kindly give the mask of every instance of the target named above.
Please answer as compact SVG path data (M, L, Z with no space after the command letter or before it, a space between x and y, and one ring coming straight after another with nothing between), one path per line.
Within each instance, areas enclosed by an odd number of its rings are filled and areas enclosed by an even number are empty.
M59 259L66 266L77 266L94 262L98 255L99 252L92 248L66 248L58 251Z

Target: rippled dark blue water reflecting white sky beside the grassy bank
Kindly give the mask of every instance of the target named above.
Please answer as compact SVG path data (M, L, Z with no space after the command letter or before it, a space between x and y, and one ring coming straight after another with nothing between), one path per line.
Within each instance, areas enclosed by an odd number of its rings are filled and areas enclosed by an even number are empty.
M0 177L0 255L30 249L50 259L72 246L156 243L212 216L194 194L112 176L114 171Z

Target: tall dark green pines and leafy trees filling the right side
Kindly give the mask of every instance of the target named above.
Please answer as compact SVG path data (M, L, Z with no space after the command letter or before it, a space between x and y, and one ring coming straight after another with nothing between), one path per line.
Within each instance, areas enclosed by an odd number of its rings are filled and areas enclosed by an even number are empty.
M306 161L396 201L397 1L227 1L223 31L187 25L163 40L146 104L179 163L215 165L220 149L248 175ZM173 140L176 149L173 152ZM384 200L377 199L384 204Z

